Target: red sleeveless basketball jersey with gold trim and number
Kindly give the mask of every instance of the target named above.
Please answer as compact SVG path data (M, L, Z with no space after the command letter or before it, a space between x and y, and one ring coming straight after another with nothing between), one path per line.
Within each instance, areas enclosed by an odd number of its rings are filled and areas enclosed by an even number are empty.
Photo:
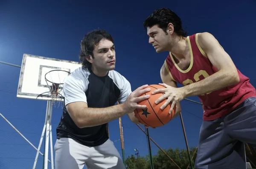
M175 63L172 54L169 54L165 60L166 69L172 80L182 85L198 82L218 71L201 49L197 37L198 34L187 37L191 56L189 68L181 70ZM250 84L249 78L239 70L237 71L240 78L238 84L198 96L202 104L204 104L204 121L227 115L245 99L256 96L256 90Z

